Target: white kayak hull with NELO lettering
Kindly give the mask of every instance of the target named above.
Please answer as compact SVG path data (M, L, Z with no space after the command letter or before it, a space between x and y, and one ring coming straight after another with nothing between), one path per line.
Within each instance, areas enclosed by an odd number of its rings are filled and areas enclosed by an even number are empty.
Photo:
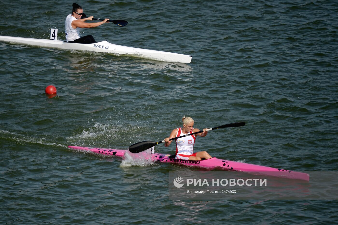
M1 36L0 41L20 43L25 45L33 45L39 47L59 48L59 49L72 49L72 50L84 50L94 52L108 52L115 55L130 55L139 58L153 59L164 62L182 62L190 63L192 56L183 55L178 53L163 52L156 50L148 50L142 48L126 47L122 45L114 45L107 41L97 42L94 44L78 44L68 43L58 40L48 39L35 39L35 38L18 38L11 36Z

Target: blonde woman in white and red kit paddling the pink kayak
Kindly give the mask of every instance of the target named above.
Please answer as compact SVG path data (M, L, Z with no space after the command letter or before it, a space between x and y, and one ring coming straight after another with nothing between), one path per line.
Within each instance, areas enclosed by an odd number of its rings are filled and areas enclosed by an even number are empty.
M179 127L173 129L170 133L169 138L164 139L164 146L168 147L172 141L169 139L176 138L178 136L182 136L188 133L194 133L200 131L197 128L193 128L194 120L191 117L184 116L182 118L183 127ZM201 159L209 159L212 158L208 152L200 151L194 153L194 144L196 135L204 137L207 135L208 128L203 129L203 133L193 134L189 136L185 136L183 138L176 139L176 158L177 159L189 159L189 160L201 160Z

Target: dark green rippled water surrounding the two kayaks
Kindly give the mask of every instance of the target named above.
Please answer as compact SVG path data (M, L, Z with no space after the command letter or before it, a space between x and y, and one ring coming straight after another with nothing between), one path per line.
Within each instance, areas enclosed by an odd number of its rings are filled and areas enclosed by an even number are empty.
M0 35L65 39L69 1L0 1ZM328 224L337 201L172 201L168 173L68 145L127 149L181 125L245 121L195 150L295 171L337 171L336 1L82 1L97 41L192 55L172 64L0 43L2 224ZM49 99L45 87L55 85ZM172 148L156 146L156 152Z

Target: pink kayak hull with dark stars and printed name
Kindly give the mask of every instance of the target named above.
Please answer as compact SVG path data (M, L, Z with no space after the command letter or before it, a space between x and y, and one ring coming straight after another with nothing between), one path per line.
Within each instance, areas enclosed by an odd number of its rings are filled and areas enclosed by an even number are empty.
M123 157L126 150L119 149L108 149L108 148L89 148L89 147L80 147L80 146L68 146L72 149L78 150L86 150L104 155L113 155ZM307 173L294 172L291 170L282 170L276 169L272 167L259 166L248 163L239 163L230 160L224 160L219 158L210 158L205 160L183 160L183 159L175 159L169 158L169 154L160 154L155 153L151 154L152 161L158 161L160 163L175 163L185 166L195 166L202 167L208 169L221 169L227 171L244 171L244 172L260 172L259 174L264 174L262 172L269 172L267 175L284 177L289 179L300 179L300 180L309 180L310 175Z

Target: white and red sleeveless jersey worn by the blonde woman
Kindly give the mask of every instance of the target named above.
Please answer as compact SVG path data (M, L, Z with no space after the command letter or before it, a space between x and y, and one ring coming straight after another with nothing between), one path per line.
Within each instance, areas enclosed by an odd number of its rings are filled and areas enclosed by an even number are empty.
M191 129L190 133L193 133ZM176 138L179 136L185 135L182 133L182 128L177 128ZM176 139L176 155L177 154L184 154L184 155L191 155L194 153L194 144L195 144L196 136L195 134L184 136L183 138Z

